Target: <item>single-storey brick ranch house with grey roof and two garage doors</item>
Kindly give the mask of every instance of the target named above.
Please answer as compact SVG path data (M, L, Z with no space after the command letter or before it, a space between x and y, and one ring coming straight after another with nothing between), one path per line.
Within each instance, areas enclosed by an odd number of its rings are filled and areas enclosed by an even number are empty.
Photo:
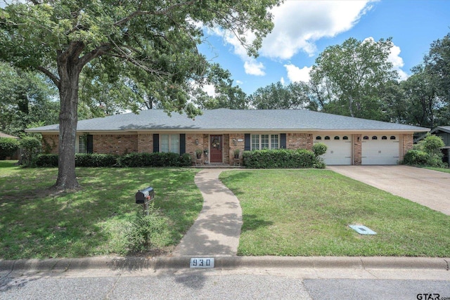
M59 125L27 129L58 153ZM205 161L230 164L234 150L309 149L325 143L326 164L397 164L413 147L417 126L330 115L309 110L203 110L186 115L145 110L87 119L77 125L77 152L114 153L207 150Z

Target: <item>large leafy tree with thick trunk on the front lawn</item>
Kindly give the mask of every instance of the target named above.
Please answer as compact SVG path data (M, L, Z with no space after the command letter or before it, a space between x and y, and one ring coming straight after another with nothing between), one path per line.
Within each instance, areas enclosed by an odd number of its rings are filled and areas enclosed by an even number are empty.
M209 68L197 45L201 23L231 30L257 55L273 27L276 0L141 0L14 2L0 11L0 60L46 74L58 87L58 189L78 188L75 137L79 79L84 67L103 70L111 83L129 86L145 71L151 91L170 111L199 113L189 103L192 82ZM245 34L255 39L248 41ZM98 78L101 80L101 78Z

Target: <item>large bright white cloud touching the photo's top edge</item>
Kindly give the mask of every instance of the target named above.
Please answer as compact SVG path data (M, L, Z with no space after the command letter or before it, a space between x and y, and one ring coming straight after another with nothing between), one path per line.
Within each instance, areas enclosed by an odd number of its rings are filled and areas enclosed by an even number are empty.
M316 40L351 29L371 2L285 1L272 10L275 27L263 41L262 56L290 59L300 50L312 56Z

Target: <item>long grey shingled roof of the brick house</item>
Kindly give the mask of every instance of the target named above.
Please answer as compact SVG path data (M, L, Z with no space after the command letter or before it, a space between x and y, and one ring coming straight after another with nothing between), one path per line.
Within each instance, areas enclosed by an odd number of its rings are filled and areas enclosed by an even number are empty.
M96 131L409 131L429 129L389 122L331 115L311 110L203 110L189 119L185 114L167 115L163 110L144 110L81 120L79 132ZM59 125L27 129L28 132L58 132Z

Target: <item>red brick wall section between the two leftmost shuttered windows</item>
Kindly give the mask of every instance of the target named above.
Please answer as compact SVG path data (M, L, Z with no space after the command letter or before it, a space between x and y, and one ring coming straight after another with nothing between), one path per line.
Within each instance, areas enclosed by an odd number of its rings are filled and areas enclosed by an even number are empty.
M98 134L94 135L94 153L117 154L138 152L136 134ZM150 151L153 150L153 146Z

